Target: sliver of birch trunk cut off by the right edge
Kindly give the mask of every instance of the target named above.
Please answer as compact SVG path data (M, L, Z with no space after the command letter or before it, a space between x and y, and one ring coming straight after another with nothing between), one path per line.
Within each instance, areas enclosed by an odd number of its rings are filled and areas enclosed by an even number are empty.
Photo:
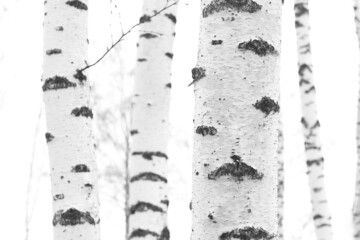
M360 49L360 9L359 0L354 0L354 13L355 13L355 27L358 37L358 44ZM357 154L358 163L356 169L356 186L355 186L355 198L353 204L353 228L354 239L360 240L360 90L358 101L358 115L357 115L357 130L356 130L356 142L357 142Z

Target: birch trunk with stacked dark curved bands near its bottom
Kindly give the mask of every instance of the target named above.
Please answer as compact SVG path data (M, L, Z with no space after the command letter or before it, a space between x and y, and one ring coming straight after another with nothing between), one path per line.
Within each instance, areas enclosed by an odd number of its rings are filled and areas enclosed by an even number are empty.
M140 22L131 123L128 239L168 240L167 160L176 6L146 0Z

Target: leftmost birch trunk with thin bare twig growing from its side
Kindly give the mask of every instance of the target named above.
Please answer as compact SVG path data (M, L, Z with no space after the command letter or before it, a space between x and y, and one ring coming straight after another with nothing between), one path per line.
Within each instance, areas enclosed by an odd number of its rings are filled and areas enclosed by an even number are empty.
M87 59L87 0L45 1L43 91L55 240L99 240Z

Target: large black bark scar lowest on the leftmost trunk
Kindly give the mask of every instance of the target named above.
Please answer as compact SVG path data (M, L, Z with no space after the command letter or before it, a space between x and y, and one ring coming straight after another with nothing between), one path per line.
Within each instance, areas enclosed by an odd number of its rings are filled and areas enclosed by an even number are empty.
M61 226L75 226L85 223L95 225L95 220L89 212L81 212L75 208L70 208L65 212L64 210L59 210L54 214L53 218L54 226L58 224Z

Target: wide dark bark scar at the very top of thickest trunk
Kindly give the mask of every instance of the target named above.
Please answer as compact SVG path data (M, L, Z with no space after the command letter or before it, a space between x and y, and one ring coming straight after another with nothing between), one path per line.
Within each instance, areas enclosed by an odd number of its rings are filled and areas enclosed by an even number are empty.
M203 9L203 17L206 18L215 12L228 9L238 12L254 13L261 10L261 5L253 0L213 0Z

